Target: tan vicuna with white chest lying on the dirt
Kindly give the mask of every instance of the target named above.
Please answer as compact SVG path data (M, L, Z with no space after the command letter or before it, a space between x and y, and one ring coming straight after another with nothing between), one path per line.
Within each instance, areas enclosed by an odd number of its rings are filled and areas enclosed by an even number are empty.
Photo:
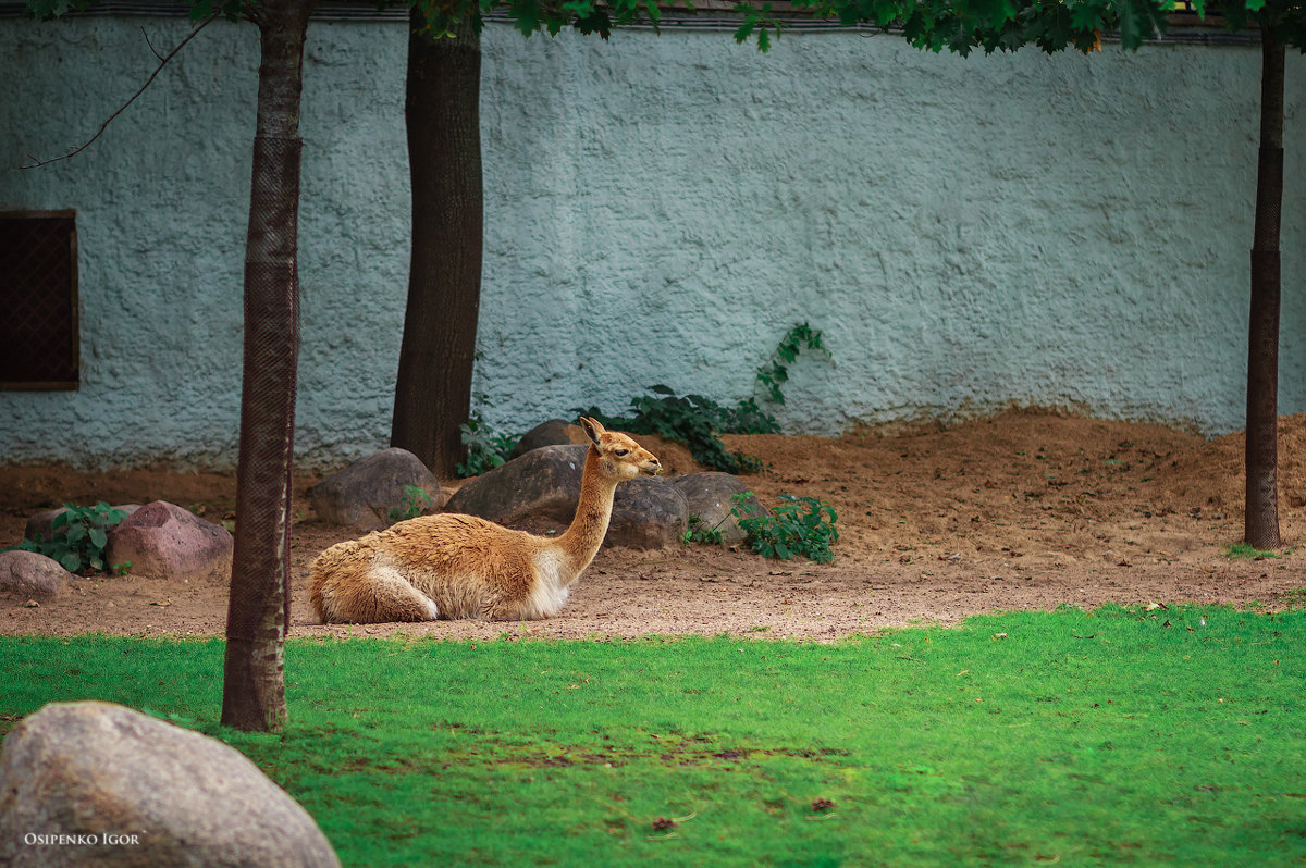
M444 513L332 546L310 568L323 623L516 621L551 617L594 560L616 484L662 465L623 433L582 418L589 453L571 527L556 538Z

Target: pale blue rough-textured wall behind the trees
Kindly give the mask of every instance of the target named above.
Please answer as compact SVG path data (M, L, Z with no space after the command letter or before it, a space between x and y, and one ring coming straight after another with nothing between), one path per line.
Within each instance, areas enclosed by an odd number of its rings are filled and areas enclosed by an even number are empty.
M88 153L178 20L0 21L0 210L78 210L82 388L0 393L0 458L235 458L257 39L214 23ZM315 23L300 457L385 444L407 270L405 34ZM475 390L496 427L722 401L807 320L781 419L1011 403L1242 424L1259 51L921 54L891 37L521 39L491 25ZM1302 61L1289 57L1280 406L1306 410Z

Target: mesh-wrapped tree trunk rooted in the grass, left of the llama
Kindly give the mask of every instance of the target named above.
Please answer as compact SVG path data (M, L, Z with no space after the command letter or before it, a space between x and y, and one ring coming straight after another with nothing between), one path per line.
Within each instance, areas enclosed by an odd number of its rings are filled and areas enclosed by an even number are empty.
M299 98L315 0L269 0L259 25L259 115L244 269L244 380L222 723L286 722L290 473L299 356Z

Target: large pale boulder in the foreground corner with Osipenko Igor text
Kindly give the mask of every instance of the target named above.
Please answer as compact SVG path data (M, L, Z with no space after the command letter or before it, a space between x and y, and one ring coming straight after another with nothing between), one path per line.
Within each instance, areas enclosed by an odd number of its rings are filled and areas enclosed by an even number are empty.
M340 865L317 824L215 739L107 702L47 705L0 752L0 864Z

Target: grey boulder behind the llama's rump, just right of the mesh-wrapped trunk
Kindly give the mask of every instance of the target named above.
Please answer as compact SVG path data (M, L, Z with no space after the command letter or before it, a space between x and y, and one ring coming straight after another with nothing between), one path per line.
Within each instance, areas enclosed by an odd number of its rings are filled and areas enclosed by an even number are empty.
M431 503L418 496L414 504L406 486L421 488ZM308 499L323 521L367 531L389 527L396 521L390 513L402 514L410 504L419 506L419 514L434 513L444 503L444 492L421 458L392 448L324 478L308 489Z

